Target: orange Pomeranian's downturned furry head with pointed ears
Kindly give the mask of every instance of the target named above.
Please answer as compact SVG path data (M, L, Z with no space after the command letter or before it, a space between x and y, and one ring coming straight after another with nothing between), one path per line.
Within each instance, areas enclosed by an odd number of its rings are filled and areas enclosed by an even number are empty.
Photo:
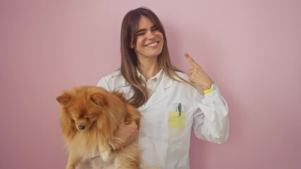
M112 96L109 92L97 87L78 87L72 91L63 92L56 100L62 106L64 120L66 118L70 120L69 125L74 125L78 130L89 130L93 125L100 123L100 120L103 120L102 123L116 120L110 118L110 113L113 113L109 105L109 97Z

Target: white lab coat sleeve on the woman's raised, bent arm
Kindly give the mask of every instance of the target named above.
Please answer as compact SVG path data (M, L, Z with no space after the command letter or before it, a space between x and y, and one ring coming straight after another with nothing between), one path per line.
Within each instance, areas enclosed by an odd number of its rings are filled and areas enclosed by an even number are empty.
M202 96L195 92L192 128L199 139L222 144L228 139L228 105L219 89Z

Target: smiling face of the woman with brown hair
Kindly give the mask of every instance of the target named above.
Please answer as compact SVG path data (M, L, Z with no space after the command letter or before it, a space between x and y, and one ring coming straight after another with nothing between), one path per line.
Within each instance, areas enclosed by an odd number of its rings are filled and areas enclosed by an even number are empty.
M137 23L135 32L136 44L130 44L138 60L143 58L156 58L163 49L164 37L158 27L147 16L142 15Z

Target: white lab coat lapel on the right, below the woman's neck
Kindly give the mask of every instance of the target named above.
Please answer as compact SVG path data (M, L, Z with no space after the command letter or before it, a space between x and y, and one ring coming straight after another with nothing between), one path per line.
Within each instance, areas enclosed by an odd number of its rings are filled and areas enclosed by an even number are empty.
M159 85L154 90L154 93L147 101L147 104L145 104L145 107L143 109L147 109L150 106L157 104L158 102L162 101L167 97L165 89L168 87L171 87L173 85L173 80L169 78L165 73L163 74L162 80L159 83Z

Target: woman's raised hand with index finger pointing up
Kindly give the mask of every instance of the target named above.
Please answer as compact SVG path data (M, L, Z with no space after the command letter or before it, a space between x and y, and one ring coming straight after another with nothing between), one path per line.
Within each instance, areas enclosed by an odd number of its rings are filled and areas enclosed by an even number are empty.
M184 56L192 65L192 69L188 72L190 82L199 85L199 87L202 87L202 90L210 89L211 85L214 84L211 78L204 72L202 67L189 56L188 53L185 53Z

